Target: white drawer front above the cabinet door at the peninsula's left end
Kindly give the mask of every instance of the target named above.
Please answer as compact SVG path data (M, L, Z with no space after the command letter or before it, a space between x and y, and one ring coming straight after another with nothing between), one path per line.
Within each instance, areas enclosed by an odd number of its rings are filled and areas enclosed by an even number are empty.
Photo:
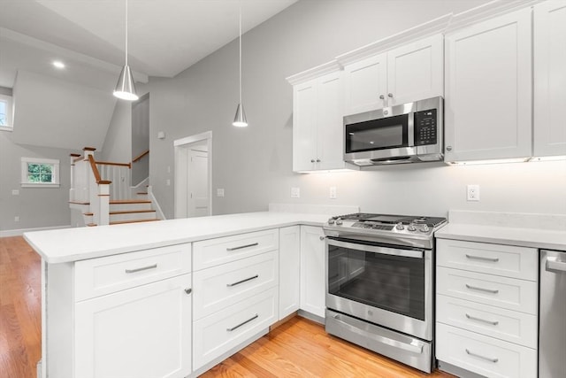
M187 273L191 273L190 243L77 261L74 265L75 300Z

